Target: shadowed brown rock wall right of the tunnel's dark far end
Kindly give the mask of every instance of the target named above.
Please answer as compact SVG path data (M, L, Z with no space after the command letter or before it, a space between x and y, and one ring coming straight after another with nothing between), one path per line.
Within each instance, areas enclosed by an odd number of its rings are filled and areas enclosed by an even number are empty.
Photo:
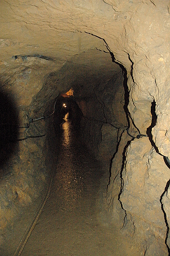
M107 79L103 73L99 81L93 77L91 97L85 96L87 85L84 83L77 99L84 114L81 132L85 144L97 158L108 162L115 152L122 130L127 127L123 109L124 78L121 68L116 64L113 67L117 72L110 70Z

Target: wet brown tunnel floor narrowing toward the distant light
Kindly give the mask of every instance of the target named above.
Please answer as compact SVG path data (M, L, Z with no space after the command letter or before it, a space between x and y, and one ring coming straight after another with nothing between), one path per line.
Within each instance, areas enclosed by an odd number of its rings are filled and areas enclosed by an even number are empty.
M113 229L98 222L100 167L65 121L51 193L21 256L119 255Z

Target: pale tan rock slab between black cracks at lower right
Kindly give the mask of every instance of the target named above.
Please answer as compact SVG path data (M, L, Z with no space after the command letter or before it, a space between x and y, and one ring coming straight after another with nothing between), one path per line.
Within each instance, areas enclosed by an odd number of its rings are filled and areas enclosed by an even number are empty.
M151 147L148 138L131 142L122 172L124 186L120 200L126 210L126 218L134 226L137 242L142 244L147 255L152 255L153 252L154 255L167 254L166 245L163 247L166 224L160 207L160 194L164 191L164 183L169 180L169 168L165 166L163 173L162 166L163 157Z

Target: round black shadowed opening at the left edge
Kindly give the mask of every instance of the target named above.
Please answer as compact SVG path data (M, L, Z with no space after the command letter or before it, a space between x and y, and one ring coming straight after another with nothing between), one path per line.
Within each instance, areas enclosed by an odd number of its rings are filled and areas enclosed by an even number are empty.
M15 104L10 96L0 92L0 168L14 153L18 133L19 122Z

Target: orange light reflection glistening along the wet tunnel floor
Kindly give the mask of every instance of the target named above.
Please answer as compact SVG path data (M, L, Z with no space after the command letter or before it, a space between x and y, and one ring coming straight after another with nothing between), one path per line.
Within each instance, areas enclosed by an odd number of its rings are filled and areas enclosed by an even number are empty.
M84 209L94 193L94 160L90 160L77 132L66 115L62 124L61 145L54 178L54 200L60 211ZM96 178L96 177L95 177Z

